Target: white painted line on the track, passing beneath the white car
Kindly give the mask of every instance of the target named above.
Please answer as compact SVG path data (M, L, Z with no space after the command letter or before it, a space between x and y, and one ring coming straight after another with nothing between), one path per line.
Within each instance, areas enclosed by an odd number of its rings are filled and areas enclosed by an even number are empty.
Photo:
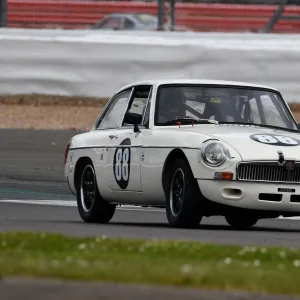
M65 207L77 207L76 201L66 201L66 200L17 200L17 199L7 199L0 200L0 203L15 203L15 204L31 204L31 205L51 205L51 206L65 206ZM156 209L152 207L141 207L135 205L122 205L117 206L118 210L128 210L128 211L151 211L151 212L164 212L163 209Z

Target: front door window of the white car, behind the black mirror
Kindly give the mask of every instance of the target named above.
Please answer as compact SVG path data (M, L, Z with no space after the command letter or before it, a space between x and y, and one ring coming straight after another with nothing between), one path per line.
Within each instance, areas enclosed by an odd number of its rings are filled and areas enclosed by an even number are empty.
M133 92L132 101L128 108L128 113L133 114L142 124L144 114L147 108L148 98L151 92L151 86L136 87ZM124 121L123 125L130 125L129 119Z

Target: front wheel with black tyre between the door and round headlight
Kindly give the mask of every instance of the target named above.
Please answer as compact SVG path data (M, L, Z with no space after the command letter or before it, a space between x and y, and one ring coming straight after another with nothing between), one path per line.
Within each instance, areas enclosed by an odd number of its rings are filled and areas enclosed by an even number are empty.
M202 219L201 196L188 162L175 160L167 172L166 213L173 227L195 228Z

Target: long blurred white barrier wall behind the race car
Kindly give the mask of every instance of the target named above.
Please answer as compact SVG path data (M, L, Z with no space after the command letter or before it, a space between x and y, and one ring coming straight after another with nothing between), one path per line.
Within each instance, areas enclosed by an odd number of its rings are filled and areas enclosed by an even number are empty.
M0 30L0 94L109 97L161 78L238 80L300 103L300 40L251 33Z

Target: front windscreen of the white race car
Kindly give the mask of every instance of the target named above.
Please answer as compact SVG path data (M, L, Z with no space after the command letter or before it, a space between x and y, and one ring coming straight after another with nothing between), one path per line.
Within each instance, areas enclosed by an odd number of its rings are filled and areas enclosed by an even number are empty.
M285 102L275 91L230 86L161 85L157 91L155 125L169 124L171 120L182 117L297 130Z

